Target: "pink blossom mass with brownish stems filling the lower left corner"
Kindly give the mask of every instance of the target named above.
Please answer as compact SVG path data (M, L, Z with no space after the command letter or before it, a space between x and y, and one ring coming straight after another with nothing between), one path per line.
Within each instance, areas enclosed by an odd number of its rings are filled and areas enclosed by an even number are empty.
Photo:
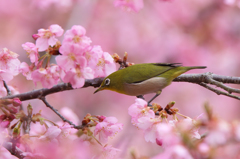
M15 104L18 103L16 100ZM19 106L19 104L17 104ZM69 108L60 110L68 120L78 124L79 119ZM16 113L13 135L9 135L10 125L0 121L0 141L9 144L11 141L17 145L21 156L24 159L34 158L108 158L114 159L119 149L107 144L108 138L115 136L122 130L123 125L117 122L115 117L90 116L87 115L89 123L85 123L83 129L77 130L66 122L52 122L44 118L41 112L32 114L32 107L28 106L28 116L31 117L30 132L21 133L20 125L27 115L23 111ZM4 123L4 124L3 124ZM92 130L91 127L94 126ZM97 139L98 138L98 139ZM9 159L16 159L8 150L0 146L0 158L7 156Z

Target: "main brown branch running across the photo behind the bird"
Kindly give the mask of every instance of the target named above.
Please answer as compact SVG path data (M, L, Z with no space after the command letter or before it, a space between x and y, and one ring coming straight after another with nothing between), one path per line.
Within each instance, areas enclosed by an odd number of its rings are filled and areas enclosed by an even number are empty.
M91 80L85 80L84 87L99 87L102 83L104 78L95 78ZM196 83L199 84L217 94L222 94L231 98L239 99L240 97L230 95L232 92L234 93L240 93L240 89L231 88L229 86L224 85L223 83L231 83L231 84L240 84L240 77L231 77L231 76L222 76L222 75L216 75L212 73L203 73L203 74L182 74L175 78L173 80L174 82L190 82L190 83ZM204 84L203 84L204 83ZM217 90L217 89L210 89L207 84L215 85L219 88L224 89L226 92ZM207 85L207 86L206 86ZM1 99L13 99L13 98L19 98L21 101L30 100L30 99L37 99L40 97L45 97L49 94L62 92L66 90L73 89L71 84L69 83L61 83L53 86L50 89L42 88L26 93L16 94L16 95L10 95L6 97L2 97ZM218 91L218 92L217 92ZM227 95L228 94L228 95Z

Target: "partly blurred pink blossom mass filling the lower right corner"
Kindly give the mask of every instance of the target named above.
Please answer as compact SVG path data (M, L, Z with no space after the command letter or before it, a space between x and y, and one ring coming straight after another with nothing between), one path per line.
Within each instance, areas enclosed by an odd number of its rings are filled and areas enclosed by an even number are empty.
M164 149L152 159L235 158L240 155L239 122L226 122L213 115L209 115L212 117L208 120L184 116L183 120L175 117L168 121L167 115L157 116L153 109L143 99L136 99L128 110L132 124L144 131L145 140Z

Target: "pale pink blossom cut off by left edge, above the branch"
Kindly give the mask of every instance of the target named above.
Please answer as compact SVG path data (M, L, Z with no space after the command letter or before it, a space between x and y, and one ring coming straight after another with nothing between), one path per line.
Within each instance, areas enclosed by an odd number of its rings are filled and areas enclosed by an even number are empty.
M0 51L0 70L7 71L12 74L12 76L16 76L19 73L18 67L20 65L20 61L17 57L18 54L7 48L3 48Z

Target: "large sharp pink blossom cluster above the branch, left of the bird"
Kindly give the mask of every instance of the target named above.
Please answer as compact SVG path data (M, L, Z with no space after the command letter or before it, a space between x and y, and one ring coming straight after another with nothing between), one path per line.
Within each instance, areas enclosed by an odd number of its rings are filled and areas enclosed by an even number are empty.
M116 70L111 55L98 45L91 46L92 41L82 26L74 25L67 30L60 43L57 37L62 34L63 29L59 25L51 25L49 29L39 29L38 34L33 35L36 44L27 42L22 45L32 64L29 66L22 62L19 70L28 80L51 88L61 78L63 82L71 83L73 88L80 88L85 79L105 77ZM46 53L39 58L42 51ZM58 55L57 64L49 64L54 55ZM45 59L47 65L43 67Z

